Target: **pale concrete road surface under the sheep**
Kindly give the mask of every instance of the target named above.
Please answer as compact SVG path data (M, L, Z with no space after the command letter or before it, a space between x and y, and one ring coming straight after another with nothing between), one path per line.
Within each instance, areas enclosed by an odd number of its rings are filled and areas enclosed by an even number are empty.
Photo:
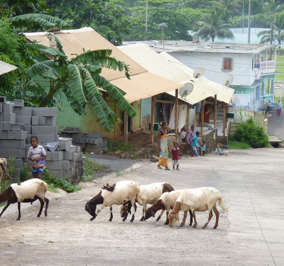
M39 205L16 205L0 218L0 265L284 265L284 149L232 151L229 156L183 157L180 171L158 170L139 161L119 177L109 174L84 184L73 194L51 194L48 217L37 218ZM219 209L219 227L207 229L207 212L197 213L197 228L164 226L150 218L121 221L114 206L94 221L84 204L102 184L130 179L140 184L168 182L175 189L215 187L226 211ZM181 218L181 214L180 214Z

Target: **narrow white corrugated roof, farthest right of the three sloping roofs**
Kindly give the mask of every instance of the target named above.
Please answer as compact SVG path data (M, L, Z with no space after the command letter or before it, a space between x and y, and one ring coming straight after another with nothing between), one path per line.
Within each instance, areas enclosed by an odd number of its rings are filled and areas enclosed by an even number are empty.
M176 60L175 57L172 57L167 52L160 52L160 55L163 56L165 59L169 60L171 63L173 63L173 65L175 65L175 67L177 67L181 71L187 72L193 76L193 70L190 67L183 65L180 61ZM208 89L212 90L212 92L213 91L215 92L217 90L217 100L218 101L224 101L226 104L229 104L229 102L231 101L231 96L234 94L234 89L223 86L222 84L219 84L217 82L212 82L211 80L207 79L204 76L202 76L200 80L195 79L195 81L200 82L201 84L206 86Z

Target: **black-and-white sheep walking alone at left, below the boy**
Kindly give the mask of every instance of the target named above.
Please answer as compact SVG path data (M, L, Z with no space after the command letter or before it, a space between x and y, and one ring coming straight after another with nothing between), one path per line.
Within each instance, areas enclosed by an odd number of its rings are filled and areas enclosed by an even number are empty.
M40 217L43 211L45 202L45 217L48 216L48 204L49 199L45 197L45 193L48 191L48 184L38 178L29 179L22 183L11 184L2 194L0 194L0 203L7 201L7 205L2 210L1 215L6 211L10 204L18 202L18 218L21 218L21 202L33 202L37 199L40 201L40 211L38 217Z

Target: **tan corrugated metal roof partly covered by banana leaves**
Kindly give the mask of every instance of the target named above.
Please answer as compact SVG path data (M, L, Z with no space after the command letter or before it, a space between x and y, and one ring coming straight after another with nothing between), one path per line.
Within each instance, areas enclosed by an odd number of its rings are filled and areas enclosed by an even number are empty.
M60 40L63 50L69 59L80 55L83 49L85 52L88 50L108 49L112 50L111 57L116 57L126 62L131 69L131 80L125 77L124 72L109 70L107 68L103 68L102 76L126 92L124 97L129 103L183 87L178 83L149 73L146 68L109 43L108 40L92 28L80 28L54 33ZM48 33L25 33L25 36L28 40L37 40L45 46L50 46L50 41L47 37Z

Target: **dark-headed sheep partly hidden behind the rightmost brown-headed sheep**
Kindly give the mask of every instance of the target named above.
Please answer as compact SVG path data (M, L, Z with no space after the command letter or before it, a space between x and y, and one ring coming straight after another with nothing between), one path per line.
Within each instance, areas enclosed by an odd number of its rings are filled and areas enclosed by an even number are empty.
M155 217L155 213L161 209L162 211L155 221L159 221L160 218L163 216L164 211L166 211L167 217L166 217L164 224L168 225L169 211L170 209L173 209L173 206L175 205L175 201L178 199L182 191L183 189L175 190L173 192L165 192L162 196L160 196L158 201L156 201L151 207L148 208L146 215L145 215L145 220L147 220L150 217ZM185 214L186 213L187 211L185 211ZM192 211L190 211L190 226L191 225L192 225Z

